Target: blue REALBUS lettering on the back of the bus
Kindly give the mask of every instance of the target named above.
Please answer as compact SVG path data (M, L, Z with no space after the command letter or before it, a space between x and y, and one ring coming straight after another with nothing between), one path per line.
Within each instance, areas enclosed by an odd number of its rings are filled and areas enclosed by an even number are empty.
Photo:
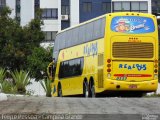
M128 65L128 64L119 64L119 68L124 68L124 69L128 69L128 70L132 70L132 69L137 69L138 71L141 70L146 70L147 67L146 64L133 64L133 65Z

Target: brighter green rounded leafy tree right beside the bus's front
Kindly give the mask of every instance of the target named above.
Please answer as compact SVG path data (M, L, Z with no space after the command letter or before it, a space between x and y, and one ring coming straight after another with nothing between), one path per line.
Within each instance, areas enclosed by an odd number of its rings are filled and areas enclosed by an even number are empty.
M52 59L52 49L47 51L42 47L34 48L32 54L27 57L27 69L31 71L31 77L36 80L43 79L47 76L47 66Z

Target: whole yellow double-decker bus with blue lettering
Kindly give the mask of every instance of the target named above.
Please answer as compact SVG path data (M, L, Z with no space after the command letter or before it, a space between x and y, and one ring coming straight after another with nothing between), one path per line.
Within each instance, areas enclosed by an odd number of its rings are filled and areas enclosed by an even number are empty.
M65 29L56 36L53 56L48 66L53 96L156 91L156 17L110 13Z

